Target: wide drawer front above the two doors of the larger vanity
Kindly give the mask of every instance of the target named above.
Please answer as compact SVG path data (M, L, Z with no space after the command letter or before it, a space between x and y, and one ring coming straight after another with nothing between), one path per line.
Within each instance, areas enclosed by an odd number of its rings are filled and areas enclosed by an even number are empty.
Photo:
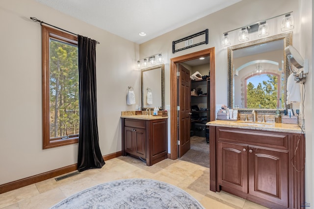
M216 140L288 150L287 133L216 127Z

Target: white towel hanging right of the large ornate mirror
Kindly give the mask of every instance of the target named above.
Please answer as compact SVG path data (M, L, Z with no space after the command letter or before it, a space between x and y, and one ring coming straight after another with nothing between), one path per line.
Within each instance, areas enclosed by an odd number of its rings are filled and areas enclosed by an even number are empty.
M291 73L287 80L287 104L301 102L300 83L294 80L294 75Z

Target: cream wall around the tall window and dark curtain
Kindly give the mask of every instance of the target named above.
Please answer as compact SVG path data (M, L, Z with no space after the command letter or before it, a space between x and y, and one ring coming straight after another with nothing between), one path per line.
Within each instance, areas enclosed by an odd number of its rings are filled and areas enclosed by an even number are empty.
M35 0L1 0L0 185L77 163L77 144L42 149L41 26L29 17L100 42L97 102L103 155L121 151L121 111L135 110L126 105L129 85L140 103L140 71L134 64L138 45Z

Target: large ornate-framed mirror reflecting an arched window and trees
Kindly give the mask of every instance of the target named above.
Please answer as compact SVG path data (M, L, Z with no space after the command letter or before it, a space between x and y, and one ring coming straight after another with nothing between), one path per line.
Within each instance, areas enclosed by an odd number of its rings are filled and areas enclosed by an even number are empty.
M292 32L228 47L228 107L288 109L285 47Z

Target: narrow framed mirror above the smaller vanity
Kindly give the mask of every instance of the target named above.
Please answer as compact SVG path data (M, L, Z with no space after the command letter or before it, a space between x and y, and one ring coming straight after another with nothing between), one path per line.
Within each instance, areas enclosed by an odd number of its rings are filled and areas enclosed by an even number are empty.
M164 64L141 70L142 110L164 110Z

